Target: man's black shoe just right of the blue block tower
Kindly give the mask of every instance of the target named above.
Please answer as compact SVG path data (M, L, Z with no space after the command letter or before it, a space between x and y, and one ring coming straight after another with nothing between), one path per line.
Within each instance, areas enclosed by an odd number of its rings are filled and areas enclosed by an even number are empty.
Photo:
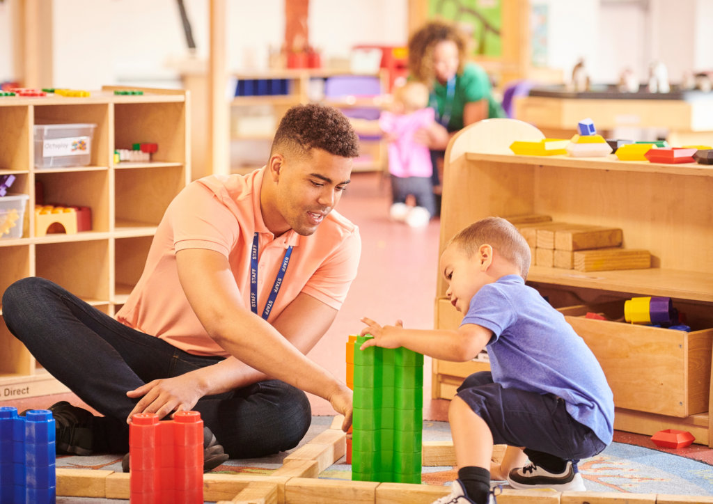
M57 455L90 456L93 452L93 414L61 401L50 406L55 423Z

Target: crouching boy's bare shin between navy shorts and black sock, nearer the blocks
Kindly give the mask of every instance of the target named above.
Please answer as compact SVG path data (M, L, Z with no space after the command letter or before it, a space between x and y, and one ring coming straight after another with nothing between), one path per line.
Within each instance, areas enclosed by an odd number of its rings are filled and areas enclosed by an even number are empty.
M451 423L458 469L474 466L490 470L493 434L483 418L473 413L471 406L456 396L448 409L448 422Z

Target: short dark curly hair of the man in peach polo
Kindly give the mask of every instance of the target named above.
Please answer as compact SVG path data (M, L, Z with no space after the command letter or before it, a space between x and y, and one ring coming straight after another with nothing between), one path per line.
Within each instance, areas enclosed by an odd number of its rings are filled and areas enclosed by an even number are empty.
M356 158L359 136L337 108L319 103L294 106L279 122L270 155L279 152L304 156L312 149L326 150L342 158Z

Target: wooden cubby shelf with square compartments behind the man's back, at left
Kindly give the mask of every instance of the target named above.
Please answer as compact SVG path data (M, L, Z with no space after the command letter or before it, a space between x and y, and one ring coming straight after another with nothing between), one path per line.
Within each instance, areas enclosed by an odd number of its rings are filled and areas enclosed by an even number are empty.
M163 213L190 182L190 96L113 93L123 89L105 87L87 98L0 98L0 175L15 175L10 192L30 197L22 237L0 238L0 297L19 279L43 277L113 315L138 282ZM96 124L88 166L34 166L34 125L48 123ZM135 142L158 143L158 151L149 162L115 164L114 150ZM44 202L91 207L91 231L38 237L36 187ZM66 390L10 334L0 304L0 400Z

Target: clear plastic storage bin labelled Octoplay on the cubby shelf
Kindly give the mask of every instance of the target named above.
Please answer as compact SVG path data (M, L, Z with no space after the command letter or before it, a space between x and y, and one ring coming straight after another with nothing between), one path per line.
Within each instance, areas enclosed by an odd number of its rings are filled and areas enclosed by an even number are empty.
M35 168L87 166L96 124L35 125Z

